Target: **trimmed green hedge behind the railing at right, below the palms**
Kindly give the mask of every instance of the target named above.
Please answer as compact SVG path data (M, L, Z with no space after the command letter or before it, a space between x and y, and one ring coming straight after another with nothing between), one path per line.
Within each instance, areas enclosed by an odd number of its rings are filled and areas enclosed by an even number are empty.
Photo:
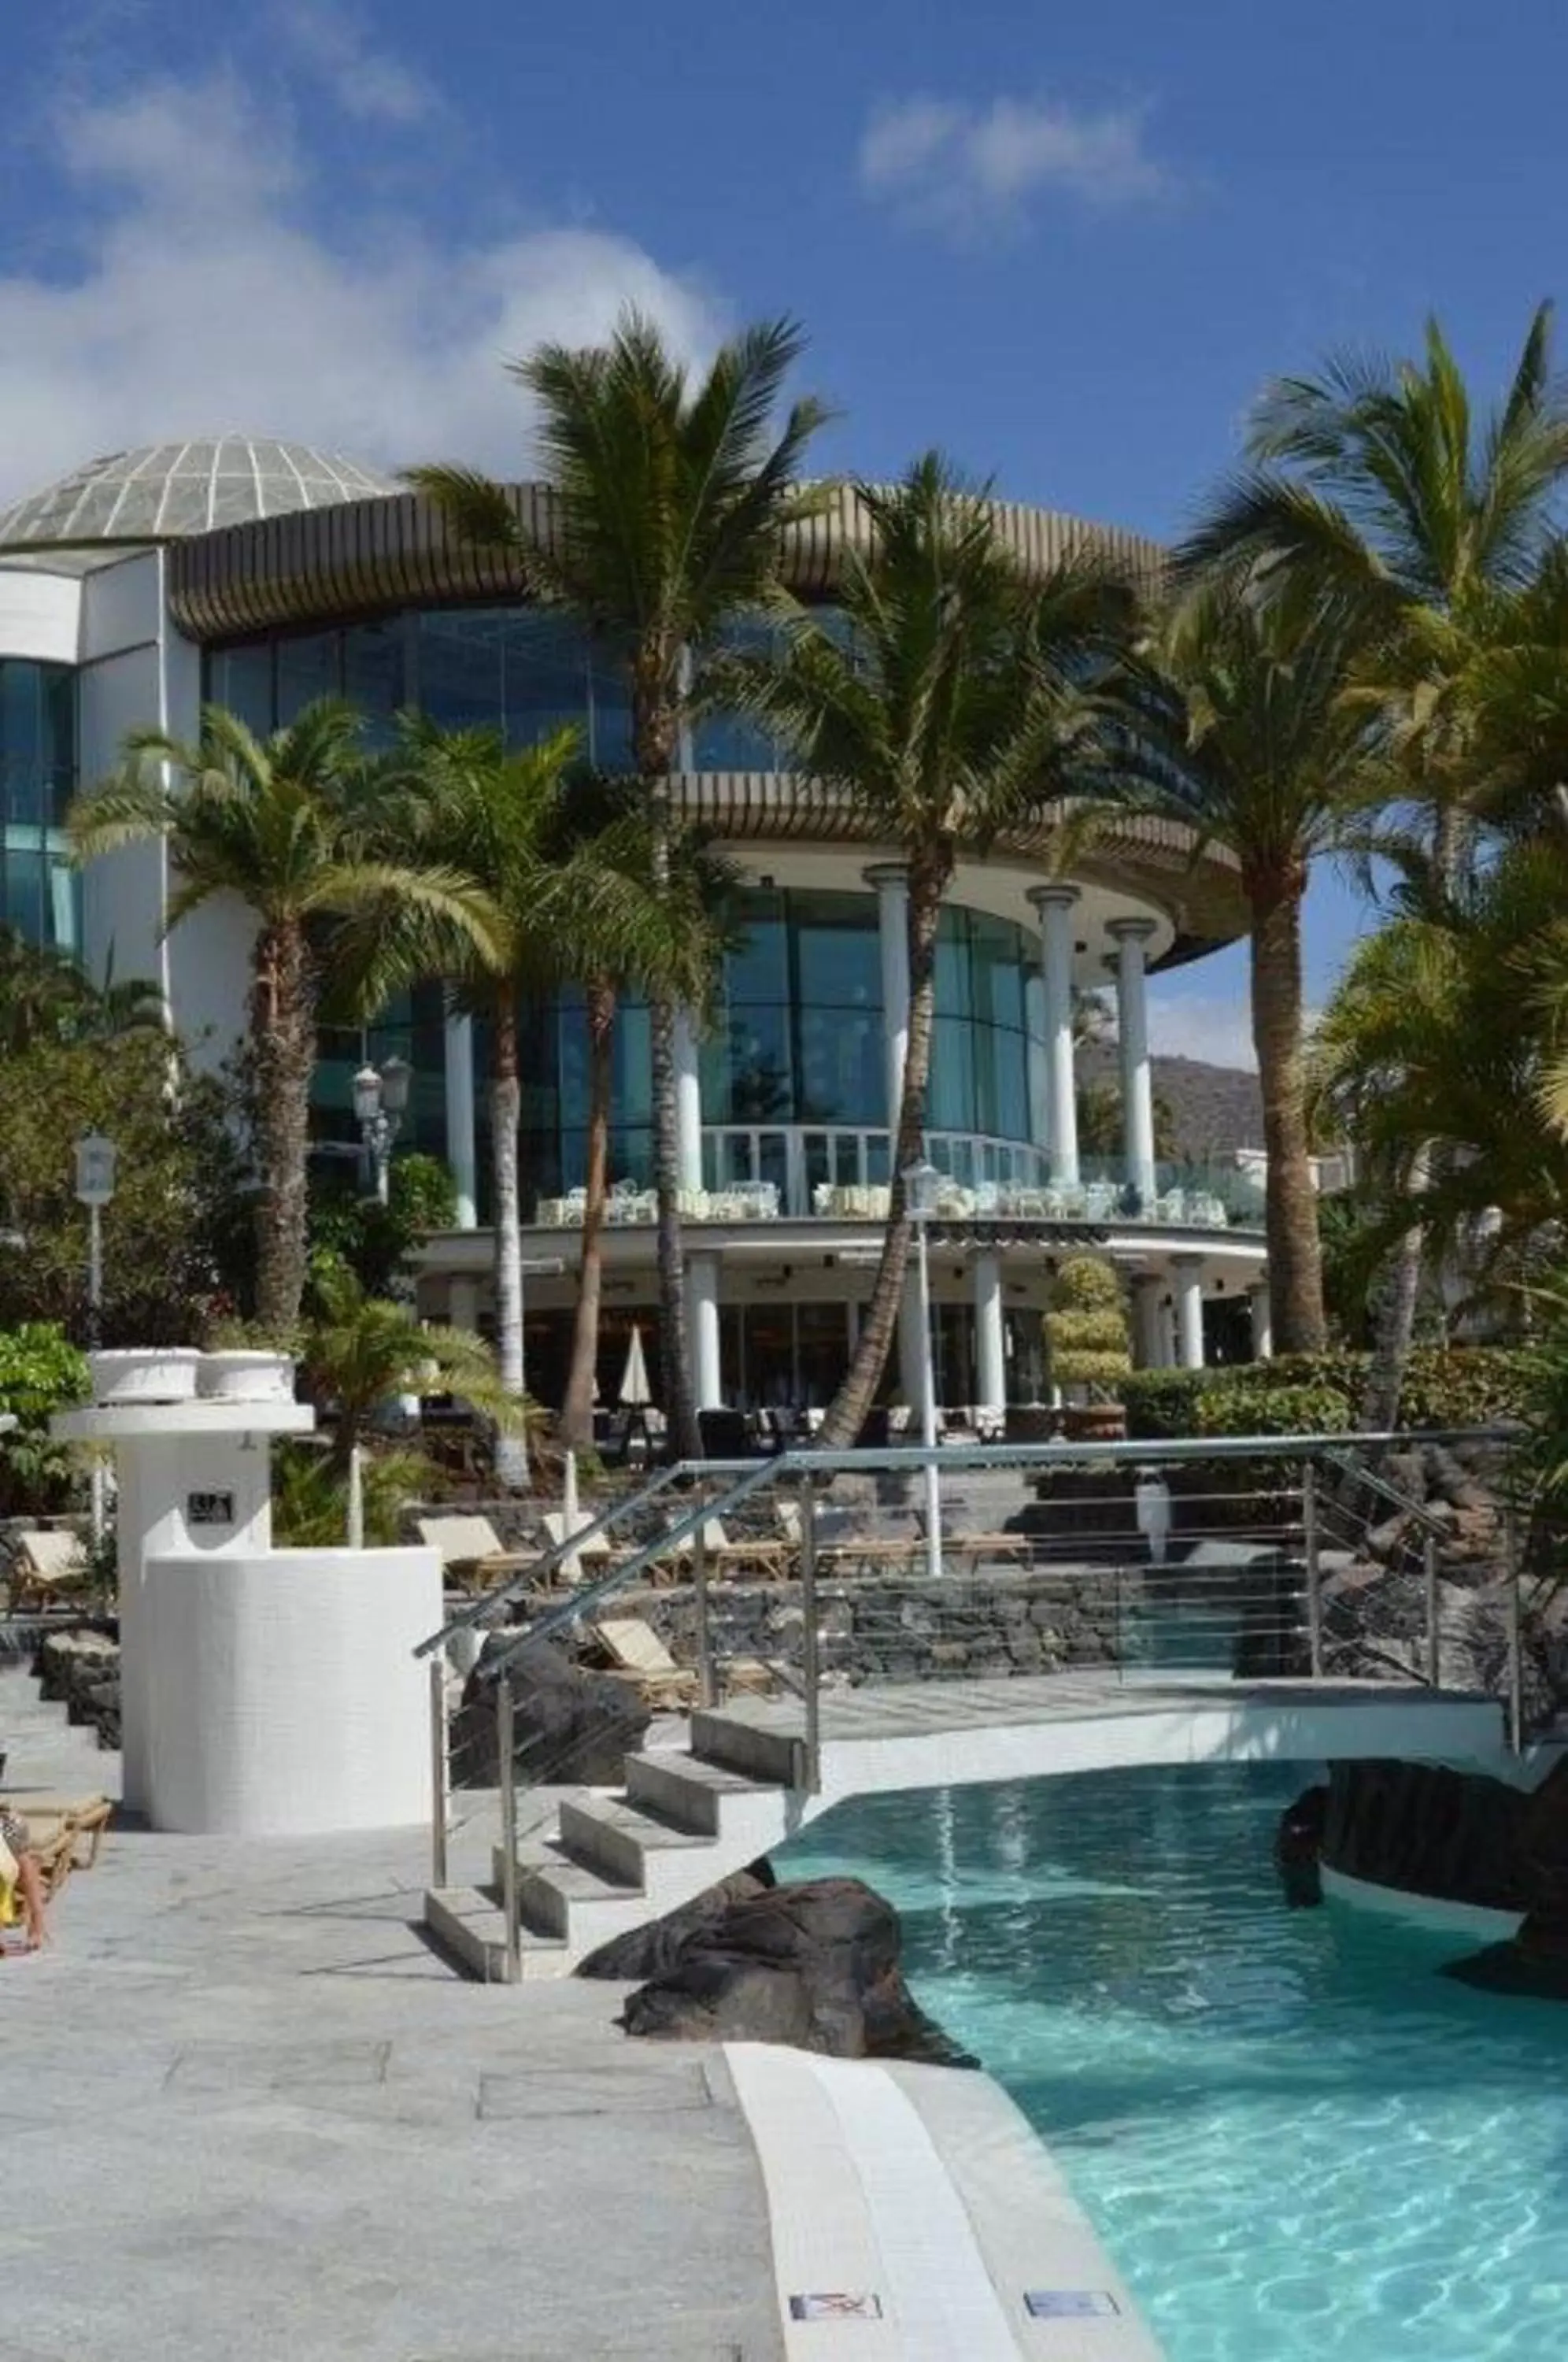
M1289 1353L1216 1370L1138 1370L1122 1384L1129 1436L1320 1436L1360 1422L1367 1353ZM1490 1427L1523 1415L1525 1363L1507 1346L1417 1346L1400 1427Z

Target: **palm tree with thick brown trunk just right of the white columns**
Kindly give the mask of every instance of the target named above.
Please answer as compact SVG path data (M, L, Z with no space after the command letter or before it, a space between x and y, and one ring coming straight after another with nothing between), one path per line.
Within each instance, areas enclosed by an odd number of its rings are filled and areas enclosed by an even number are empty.
M1141 801L1240 860L1252 916L1252 1039L1268 1153L1268 1278L1285 1353L1325 1342L1306 1122L1301 898L1365 787L1365 723L1346 702L1351 640L1327 607L1216 579L1167 619L1159 659L1185 749ZM1167 725L1169 727L1169 725Z

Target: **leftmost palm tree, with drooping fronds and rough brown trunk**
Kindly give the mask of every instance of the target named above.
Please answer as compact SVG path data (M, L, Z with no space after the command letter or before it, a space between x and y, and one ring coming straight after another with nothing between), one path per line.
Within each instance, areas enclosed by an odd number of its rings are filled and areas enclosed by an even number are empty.
M163 730L125 739L120 772L78 796L68 829L80 860L163 836L177 874L165 926L215 895L243 902L250 947L250 1084L257 1162L257 1320L286 1332L305 1290L305 1169L316 1018L359 931L375 940L394 909L486 940L479 898L453 872L375 850L375 770L352 706L321 699L257 739L205 706L194 746ZM371 999L375 999L371 987Z

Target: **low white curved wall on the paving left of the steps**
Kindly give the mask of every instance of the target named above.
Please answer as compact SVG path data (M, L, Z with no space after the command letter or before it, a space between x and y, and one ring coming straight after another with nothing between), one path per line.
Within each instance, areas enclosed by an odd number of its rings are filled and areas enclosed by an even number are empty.
M142 1665L153 1828L246 1838L430 1816L435 1549L210 1552L146 1561Z

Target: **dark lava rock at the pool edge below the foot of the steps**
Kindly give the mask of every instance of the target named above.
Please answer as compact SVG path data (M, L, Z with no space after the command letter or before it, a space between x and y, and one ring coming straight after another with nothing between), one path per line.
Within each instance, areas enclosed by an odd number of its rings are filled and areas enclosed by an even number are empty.
M697 1925L671 1965L628 1996L621 2024L654 2041L973 2067L926 2017L897 1960L893 1904L857 1878L812 1878L730 1901Z

